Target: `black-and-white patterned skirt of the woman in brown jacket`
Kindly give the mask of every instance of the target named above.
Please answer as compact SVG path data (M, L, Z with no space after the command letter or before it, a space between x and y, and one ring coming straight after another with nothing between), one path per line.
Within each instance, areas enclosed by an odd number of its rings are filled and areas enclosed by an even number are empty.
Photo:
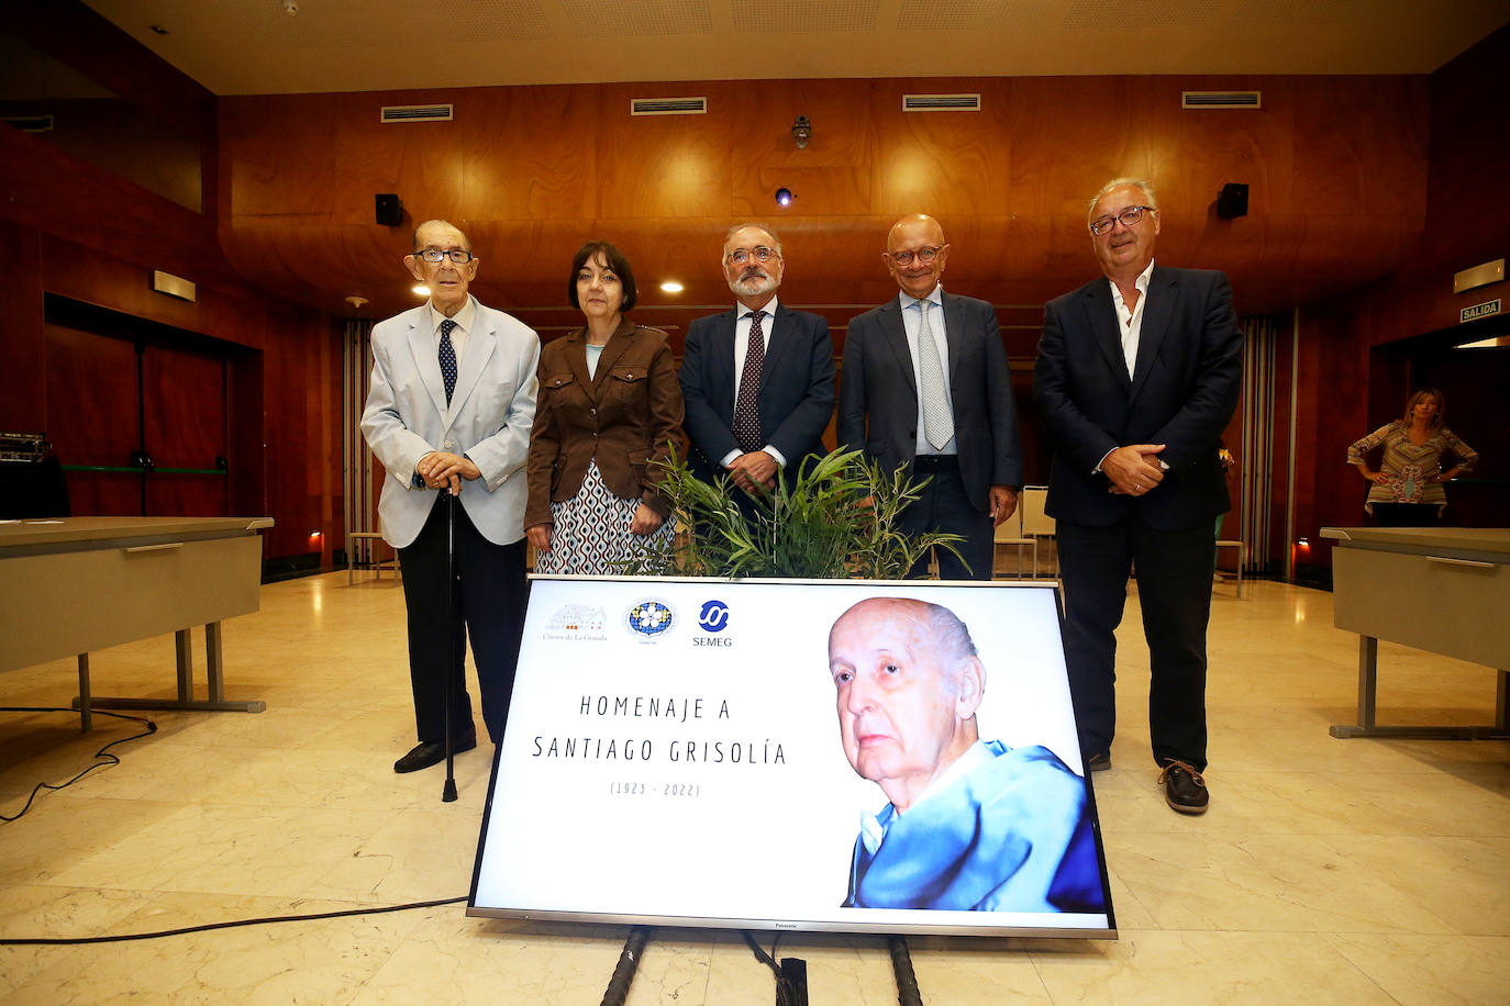
M598 463L587 466L581 489L565 502L551 504L551 551L535 557L536 573L615 576L618 566L646 547L661 547L676 535L676 519L646 535L630 534L639 499L615 496Z

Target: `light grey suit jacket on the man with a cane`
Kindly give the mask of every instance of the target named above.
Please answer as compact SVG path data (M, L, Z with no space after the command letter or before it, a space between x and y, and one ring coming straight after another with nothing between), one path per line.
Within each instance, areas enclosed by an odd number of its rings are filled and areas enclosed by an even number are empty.
M412 544L435 505L435 490L414 487L414 468L430 451L465 454L482 471L464 481L461 504L485 538L512 544L524 537L535 371L541 339L535 330L473 299L451 404L435 351L430 306L373 326L373 377L362 412L362 436L387 469L378 516L384 541Z

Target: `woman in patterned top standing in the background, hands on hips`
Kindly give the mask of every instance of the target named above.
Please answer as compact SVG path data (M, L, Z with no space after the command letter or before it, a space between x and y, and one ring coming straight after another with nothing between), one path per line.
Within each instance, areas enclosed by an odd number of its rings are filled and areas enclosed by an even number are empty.
M1447 400L1436 388L1422 388L1406 400L1406 415L1388 427L1380 427L1347 448L1347 463L1371 484L1364 510L1374 513L1376 502L1436 504L1438 513L1447 507L1442 483L1457 478L1474 466L1478 454L1453 436L1442 422ZM1383 448L1379 471L1370 471L1368 452ZM1457 463L1444 471L1442 455L1453 454Z

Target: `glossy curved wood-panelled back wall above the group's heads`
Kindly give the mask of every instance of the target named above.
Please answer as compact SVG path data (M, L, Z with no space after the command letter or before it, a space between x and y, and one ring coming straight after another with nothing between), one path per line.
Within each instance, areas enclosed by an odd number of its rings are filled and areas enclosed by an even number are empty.
M1185 112L1182 89L1253 87L1256 112ZM904 113L909 92L978 92L978 113ZM630 116L634 97L702 95L708 115ZM385 125L387 104L450 103L451 122ZM1288 309L1388 273L1425 220L1424 77L1042 77L775 80L474 87L220 101L222 243L254 282L331 312L414 303L399 258L409 225L471 235L479 297L569 323L566 265L590 237L648 281L642 315L684 327L729 299L725 226L749 217L785 241L787 296L847 317L892 293L889 223L926 211L953 244L951 288L1042 305L1090 275L1084 205L1102 181L1160 186L1161 256L1225 268L1247 312ZM811 145L791 143L808 115ZM1249 216L1219 220L1225 182ZM782 210L778 186L797 193ZM373 195L409 220L384 228ZM1376 202L1391 204L1374 213ZM661 279L687 290L669 297ZM695 317L695 315L692 315ZM536 320L532 315L532 320Z

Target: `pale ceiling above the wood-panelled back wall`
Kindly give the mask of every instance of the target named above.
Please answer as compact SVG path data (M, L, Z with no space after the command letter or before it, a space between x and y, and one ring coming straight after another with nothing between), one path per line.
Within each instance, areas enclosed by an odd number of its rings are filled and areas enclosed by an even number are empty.
M624 80L1428 74L1510 23L1510 0L86 2L220 95Z

